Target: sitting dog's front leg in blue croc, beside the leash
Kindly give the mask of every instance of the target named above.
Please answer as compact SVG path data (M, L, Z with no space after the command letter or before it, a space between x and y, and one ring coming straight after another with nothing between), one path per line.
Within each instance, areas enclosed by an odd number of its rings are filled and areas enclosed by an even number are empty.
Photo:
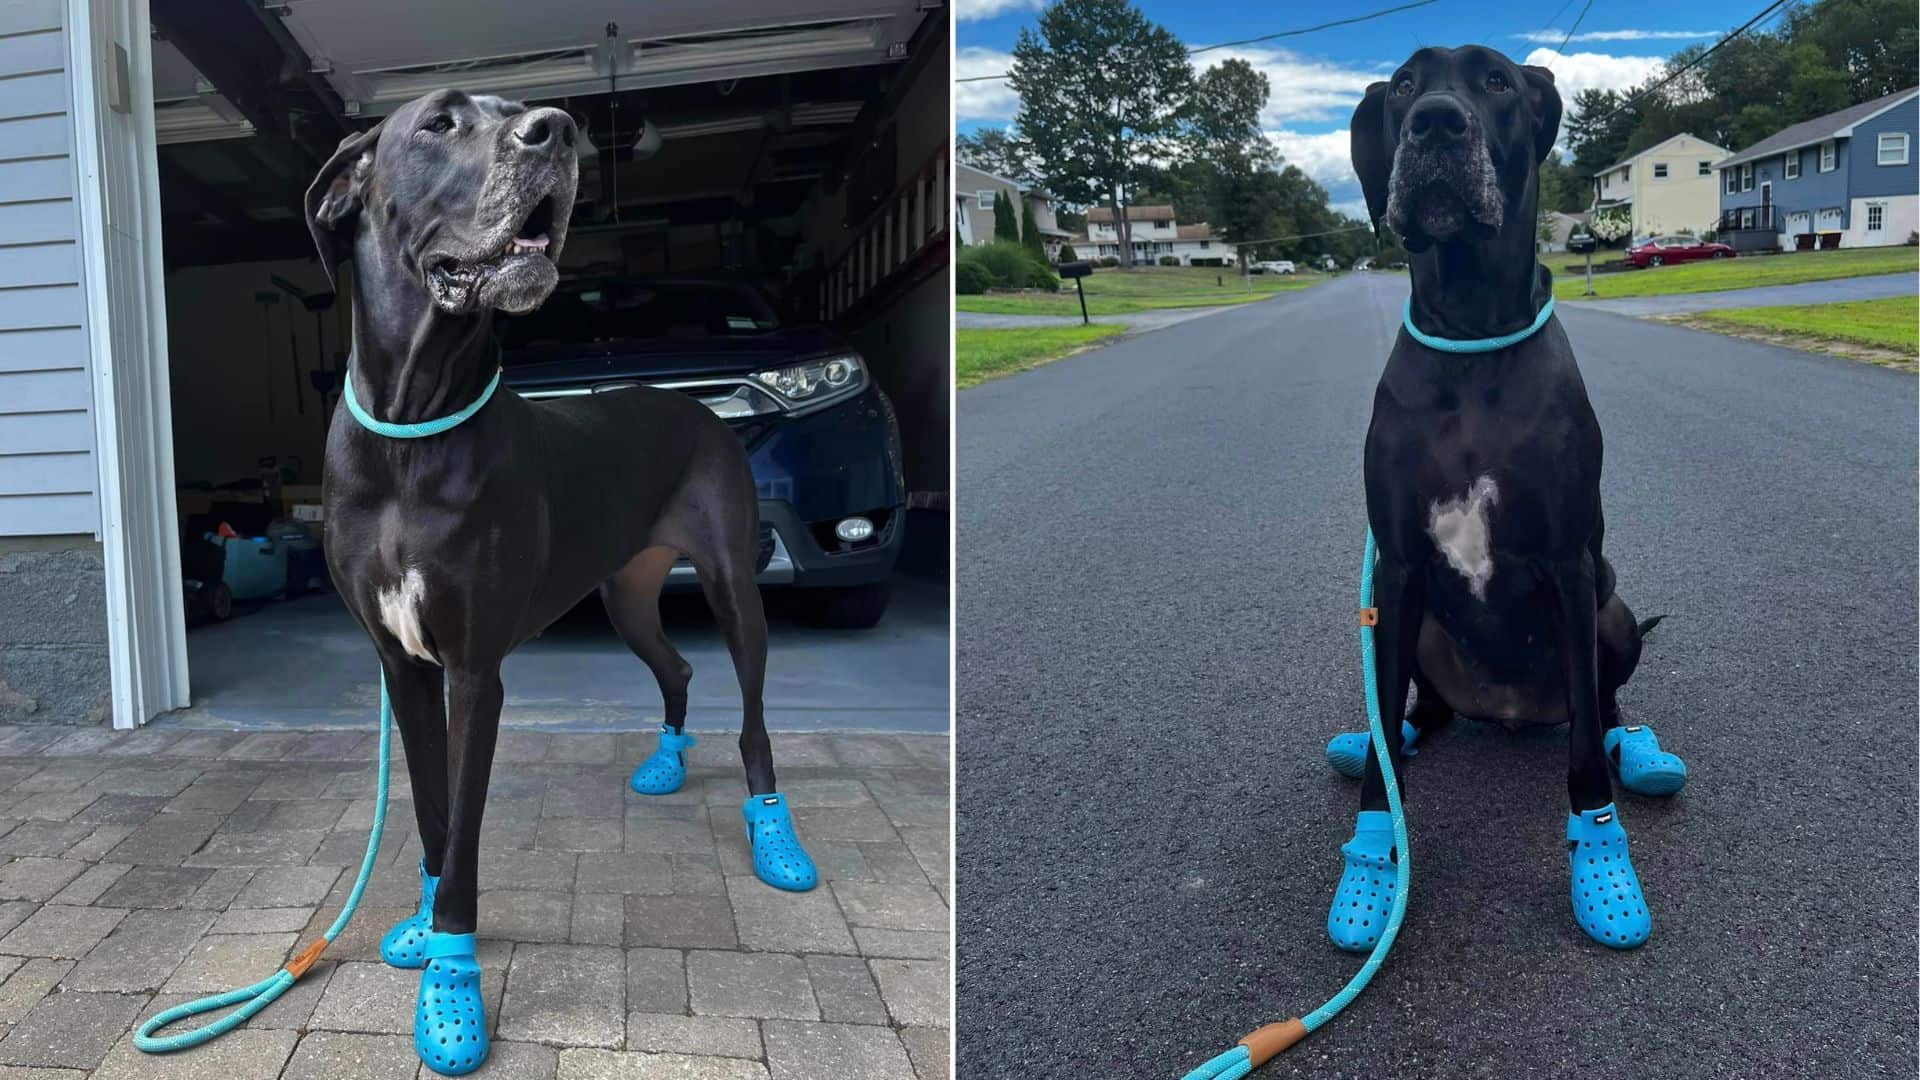
M1405 792L1402 771L1400 721L1407 709L1407 682L1413 678L1413 650L1425 619L1425 575L1404 561L1380 553L1373 567L1373 603L1379 625L1373 630L1373 676L1380 703L1380 726L1386 734L1386 759L1394 767L1394 784ZM1340 847L1346 871L1327 909L1327 936L1332 944L1363 953L1386 930L1386 915L1394 903L1394 819L1386 809L1386 778L1380 759L1367 753L1367 774L1359 786L1359 815L1354 817L1354 838Z

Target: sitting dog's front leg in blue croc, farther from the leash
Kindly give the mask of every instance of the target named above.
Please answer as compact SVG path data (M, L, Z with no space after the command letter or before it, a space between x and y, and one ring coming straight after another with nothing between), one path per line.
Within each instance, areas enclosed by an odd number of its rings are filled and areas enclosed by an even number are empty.
M1572 917L1588 938L1615 949L1632 949L1653 932L1647 899L1640 892L1626 851L1626 828L1613 805L1613 780L1601 746L1599 650L1596 638L1594 557L1548 567L1561 628L1561 663L1567 680L1567 865Z

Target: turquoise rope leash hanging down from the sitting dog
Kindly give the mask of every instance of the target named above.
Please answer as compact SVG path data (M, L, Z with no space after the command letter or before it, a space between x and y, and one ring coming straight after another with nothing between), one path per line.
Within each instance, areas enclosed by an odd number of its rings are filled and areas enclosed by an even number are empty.
M1548 302L1548 311L1551 309L1553 304ZM1407 327L1411 329L1411 323L1407 323ZM1367 552L1359 567L1361 611L1373 607L1373 565L1379 553L1373 546L1373 530L1369 528ZM1359 997L1359 992L1373 982L1373 974L1386 963L1386 951L1394 947L1394 938L1400 936L1400 920L1407 915L1407 890L1413 882L1413 861L1407 857L1407 817L1400 805L1400 784L1394 782L1394 765L1386 757L1386 726L1380 723L1380 694L1373 684L1373 626L1365 621L1361 621L1359 626L1359 671L1367 690L1367 734L1373 738L1373 755L1380 761L1380 778L1386 780L1386 809L1394 817L1394 849L1400 857L1398 884L1394 886L1394 907L1386 915L1386 932L1382 932L1380 940L1373 945L1373 951L1367 955L1367 963L1359 965L1354 978L1340 988L1340 994L1329 997L1325 1005L1313 1009L1304 1019L1283 1020L1256 1030L1254 1034L1242 1038L1233 1049L1215 1055L1200 1068L1188 1072L1185 1080L1240 1080L1327 1020L1338 1017L1340 1011L1352 1005L1354 999Z

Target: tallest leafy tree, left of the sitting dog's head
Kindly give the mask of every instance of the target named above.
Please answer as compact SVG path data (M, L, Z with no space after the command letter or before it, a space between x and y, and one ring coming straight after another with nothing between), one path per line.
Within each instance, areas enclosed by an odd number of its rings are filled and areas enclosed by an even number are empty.
M1133 265L1125 208L1144 163L1175 154L1192 90L1187 48L1127 0L1058 0L1037 31L1020 31L1008 83L1043 186L1110 208L1121 265Z

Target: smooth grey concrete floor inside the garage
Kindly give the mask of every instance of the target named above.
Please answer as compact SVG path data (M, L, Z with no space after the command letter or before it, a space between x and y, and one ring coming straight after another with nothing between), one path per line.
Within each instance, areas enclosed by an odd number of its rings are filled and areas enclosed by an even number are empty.
M947 588L895 577L872 630L822 630L768 592L770 730L947 730ZM664 598L666 636L693 665L687 726L739 730L739 684L697 592ZM338 596L265 603L188 630L192 707L157 721L190 728L369 728L380 675L367 634ZM505 665L503 724L538 730L651 730L660 692L589 598ZM778 746L776 746L778 753Z

